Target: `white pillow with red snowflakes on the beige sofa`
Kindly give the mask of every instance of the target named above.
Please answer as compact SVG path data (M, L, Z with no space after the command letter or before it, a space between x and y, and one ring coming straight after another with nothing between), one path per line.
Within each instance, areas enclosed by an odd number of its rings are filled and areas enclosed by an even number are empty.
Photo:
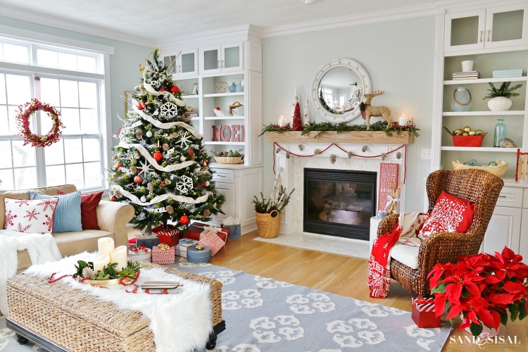
M6 206L5 230L32 233L51 233L54 228L54 213L58 198L13 199L4 198Z

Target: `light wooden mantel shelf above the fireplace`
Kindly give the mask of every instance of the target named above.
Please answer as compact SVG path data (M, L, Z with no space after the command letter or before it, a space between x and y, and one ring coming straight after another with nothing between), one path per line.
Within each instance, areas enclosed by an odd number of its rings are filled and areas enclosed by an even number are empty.
M350 144L413 144L415 135L409 131L401 131L399 134L391 132L387 136L384 131L351 131L341 132L324 131L318 137L317 131L301 134L301 131L289 132L266 132L268 142L282 143L350 143Z

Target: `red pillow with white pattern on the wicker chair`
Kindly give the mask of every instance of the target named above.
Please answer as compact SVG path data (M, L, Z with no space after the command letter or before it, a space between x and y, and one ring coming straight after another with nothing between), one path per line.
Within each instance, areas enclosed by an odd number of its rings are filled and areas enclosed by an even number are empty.
M436 232L465 234L473 222L474 203L442 191L420 232L421 239Z

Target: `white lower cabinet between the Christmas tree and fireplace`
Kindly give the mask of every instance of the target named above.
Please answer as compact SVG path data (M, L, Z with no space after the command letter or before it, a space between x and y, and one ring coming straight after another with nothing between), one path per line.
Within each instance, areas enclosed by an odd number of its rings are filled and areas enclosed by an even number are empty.
M226 196L222 205L224 214L213 216L213 222L222 223L225 218L232 216L238 218L241 233L246 234L256 230L255 210L253 196L258 196L263 191L262 166L244 167L241 165L211 164L214 171L218 191Z

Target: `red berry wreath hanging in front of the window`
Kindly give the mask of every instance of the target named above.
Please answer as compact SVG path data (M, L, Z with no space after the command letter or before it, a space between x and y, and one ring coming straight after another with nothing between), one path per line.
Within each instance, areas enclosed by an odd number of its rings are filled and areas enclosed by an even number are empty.
M43 137L34 134L30 129L30 117L35 111L39 110L46 111L53 122L51 130L49 130L49 132ZM61 137L61 127L64 127L61 118L59 118L60 115L61 113L59 113L56 108L49 104L41 103L37 99L31 99L31 101L20 105L18 107L18 115L16 115L16 122L20 129L18 135L24 137L24 145L50 146L57 142L58 137Z

